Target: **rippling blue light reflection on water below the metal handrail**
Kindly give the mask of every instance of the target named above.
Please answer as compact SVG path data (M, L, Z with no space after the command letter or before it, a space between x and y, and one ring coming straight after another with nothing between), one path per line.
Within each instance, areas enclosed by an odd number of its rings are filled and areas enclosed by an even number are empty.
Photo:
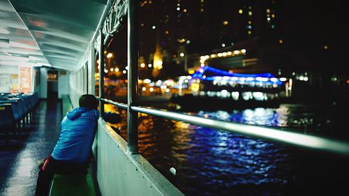
M181 152L188 155L188 160L177 171L197 179L181 179L184 188L198 186L207 194L229 195L241 186L279 186L292 179L288 154L282 146L208 128L191 128L191 148ZM275 170L284 174L280 176ZM188 193L196 194L195 190Z

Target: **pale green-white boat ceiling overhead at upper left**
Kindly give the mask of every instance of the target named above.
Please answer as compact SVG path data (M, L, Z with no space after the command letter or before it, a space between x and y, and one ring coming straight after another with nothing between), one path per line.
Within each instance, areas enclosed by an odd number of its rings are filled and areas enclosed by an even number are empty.
M75 70L108 2L0 0L0 64Z

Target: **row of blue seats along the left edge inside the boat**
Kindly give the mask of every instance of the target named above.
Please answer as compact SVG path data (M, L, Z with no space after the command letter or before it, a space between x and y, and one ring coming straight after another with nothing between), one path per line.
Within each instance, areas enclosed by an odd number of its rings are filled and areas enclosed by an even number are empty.
M38 93L0 93L0 134L6 145L11 134L29 127L38 100Z

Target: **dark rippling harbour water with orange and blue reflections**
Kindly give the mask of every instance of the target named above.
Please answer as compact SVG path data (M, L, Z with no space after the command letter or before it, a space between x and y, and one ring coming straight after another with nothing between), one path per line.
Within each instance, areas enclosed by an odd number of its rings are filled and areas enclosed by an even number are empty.
M342 112L333 105L281 105L191 114L347 140L348 128L337 130L346 119ZM140 115L139 132L142 156L185 195L341 195L349 186L349 160L343 156L147 114ZM126 139L126 124L121 135Z

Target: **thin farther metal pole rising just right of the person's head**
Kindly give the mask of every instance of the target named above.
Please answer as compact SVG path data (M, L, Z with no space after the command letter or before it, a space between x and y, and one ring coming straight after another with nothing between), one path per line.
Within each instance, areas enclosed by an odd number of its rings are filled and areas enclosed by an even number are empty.
M104 36L102 32L102 28L99 29L100 33L100 42L99 42L99 97L104 98ZM104 103L99 101L99 116L102 117L104 113Z

